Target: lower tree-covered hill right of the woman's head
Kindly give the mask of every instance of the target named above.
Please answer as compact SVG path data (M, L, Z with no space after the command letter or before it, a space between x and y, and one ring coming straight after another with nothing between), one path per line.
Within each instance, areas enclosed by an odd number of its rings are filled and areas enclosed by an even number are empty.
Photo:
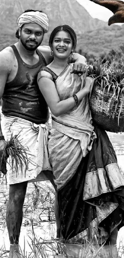
M118 51L120 47L124 50L124 24L102 26L100 29L79 35L77 51L81 49L82 54L93 54L98 58L101 54L108 54L112 49Z

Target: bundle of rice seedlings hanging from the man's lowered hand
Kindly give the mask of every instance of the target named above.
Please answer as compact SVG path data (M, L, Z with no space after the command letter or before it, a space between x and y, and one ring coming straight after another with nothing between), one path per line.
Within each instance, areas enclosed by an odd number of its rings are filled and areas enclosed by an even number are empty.
M21 169L21 172L25 172L28 169L28 158L27 158L27 149L25 149L21 141L18 140L18 135L11 134L10 140L7 141L5 151L0 153L0 171L6 175L6 163L8 157L11 159L11 165L15 169L16 174L18 174L18 168Z

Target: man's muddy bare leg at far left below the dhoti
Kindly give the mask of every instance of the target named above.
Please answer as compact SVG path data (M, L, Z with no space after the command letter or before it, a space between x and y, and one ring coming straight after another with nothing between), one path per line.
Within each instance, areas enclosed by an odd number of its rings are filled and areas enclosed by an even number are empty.
M20 258L19 235L23 217L27 182L10 185L9 201L6 209L6 224L10 238L10 258Z

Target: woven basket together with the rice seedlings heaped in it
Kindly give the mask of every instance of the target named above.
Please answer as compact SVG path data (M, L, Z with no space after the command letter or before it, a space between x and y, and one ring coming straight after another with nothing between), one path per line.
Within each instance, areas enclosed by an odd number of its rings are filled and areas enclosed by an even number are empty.
M124 132L124 61L117 58L111 66L95 62L86 74L94 78L90 93L94 124L109 132Z

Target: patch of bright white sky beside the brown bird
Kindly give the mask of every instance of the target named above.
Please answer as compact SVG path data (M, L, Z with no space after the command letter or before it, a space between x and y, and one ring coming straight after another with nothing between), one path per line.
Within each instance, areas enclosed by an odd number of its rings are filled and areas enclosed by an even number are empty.
M107 22L113 13L103 6L99 6L89 0L76 0L81 4L93 18ZM123 0L122 0L123 1ZM123 1L124 2L124 1ZM119 24L118 24L119 25Z

